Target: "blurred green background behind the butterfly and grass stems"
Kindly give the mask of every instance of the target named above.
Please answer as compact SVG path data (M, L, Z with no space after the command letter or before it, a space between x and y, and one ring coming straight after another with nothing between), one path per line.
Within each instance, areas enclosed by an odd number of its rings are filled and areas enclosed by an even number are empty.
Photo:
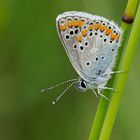
M77 77L55 18L79 10L120 25L127 0L0 1L0 140L87 140L99 99L91 91L40 89ZM111 140L140 139L140 48L135 54Z

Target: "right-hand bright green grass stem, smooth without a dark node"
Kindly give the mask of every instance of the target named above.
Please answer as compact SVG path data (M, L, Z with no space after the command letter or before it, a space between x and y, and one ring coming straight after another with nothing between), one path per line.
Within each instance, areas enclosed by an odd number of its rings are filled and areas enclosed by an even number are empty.
M120 62L120 69L125 70L126 73L117 76L115 88L119 89L119 94L113 94L108 111L106 114L106 118L102 127L102 131L100 134L100 140L109 140L111 131L113 128L113 124L115 122L115 118L118 112L118 108L120 106L121 98L123 95L125 83L128 77L128 71L130 69L134 53L136 50L137 43L140 39L140 5L137 10L136 18L130 33L130 37L128 40L127 48L125 53L123 54L122 61Z

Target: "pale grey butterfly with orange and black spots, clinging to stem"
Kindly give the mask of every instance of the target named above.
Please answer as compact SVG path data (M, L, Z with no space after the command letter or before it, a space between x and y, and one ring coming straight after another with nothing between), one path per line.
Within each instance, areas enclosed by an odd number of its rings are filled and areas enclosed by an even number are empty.
M121 45L122 29L104 17L77 11L58 15L56 28L70 62L80 78L64 81L42 92L72 82L53 104L74 84L80 90L91 89L96 96L108 99L101 91L115 90L106 87L106 84L112 74L122 72L112 71Z

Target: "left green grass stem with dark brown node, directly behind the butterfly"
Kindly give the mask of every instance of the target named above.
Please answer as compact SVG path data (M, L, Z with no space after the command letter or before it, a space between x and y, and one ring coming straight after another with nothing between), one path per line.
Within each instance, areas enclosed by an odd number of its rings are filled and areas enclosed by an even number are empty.
M129 0L124 12L124 15L129 15L131 18L133 18L135 16L135 12L136 12L136 7L138 4L138 0ZM121 28L124 30L124 36L123 36L123 42L122 42L122 46L124 47L125 44L125 40L128 37L128 31L131 27L131 24L127 24L122 22L121 24ZM125 50L125 48L123 48L120 50L120 58L121 58L121 54L123 53L123 50ZM118 65L117 65L118 66ZM116 66L116 68L117 68ZM117 68L118 69L118 68ZM118 69L119 70L119 69ZM121 76L121 75L120 75ZM109 81L109 86L112 87L115 83L116 76L113 77L110 81ZM109 97L111 92L110 91L104 91L104 94ZM118 94L115 94L118 95ZM90 131L90 135L89 135L89 140L98 140L99 139L99 135L104 123L104 119L106 116L106 112L107 112L107 108L108 108L109 102L107 100L105 100L104 98L101 98L98 104L98 108L97 108L97 112L95 115L95 119ZM104 139L105 140L105 139Z

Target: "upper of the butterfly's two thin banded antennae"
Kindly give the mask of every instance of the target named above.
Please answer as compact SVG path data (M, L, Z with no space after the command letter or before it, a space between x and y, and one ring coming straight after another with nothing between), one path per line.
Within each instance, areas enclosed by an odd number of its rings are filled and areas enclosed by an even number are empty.
M42 89L41 92L48 92L49 90L52 90L52 89L54 89L54 88L57 88L57 87L59 87L59 86L61 86L61 85L64 85L64 84L69 83L69 82L77 81L77 80L78 80L78 79L66 80L66 81L63 81L63 82L61 82L61 83L58 83L58 84L56 84L56 85L54 85L54 86L48 87L48 88L46 88L46 89Z

